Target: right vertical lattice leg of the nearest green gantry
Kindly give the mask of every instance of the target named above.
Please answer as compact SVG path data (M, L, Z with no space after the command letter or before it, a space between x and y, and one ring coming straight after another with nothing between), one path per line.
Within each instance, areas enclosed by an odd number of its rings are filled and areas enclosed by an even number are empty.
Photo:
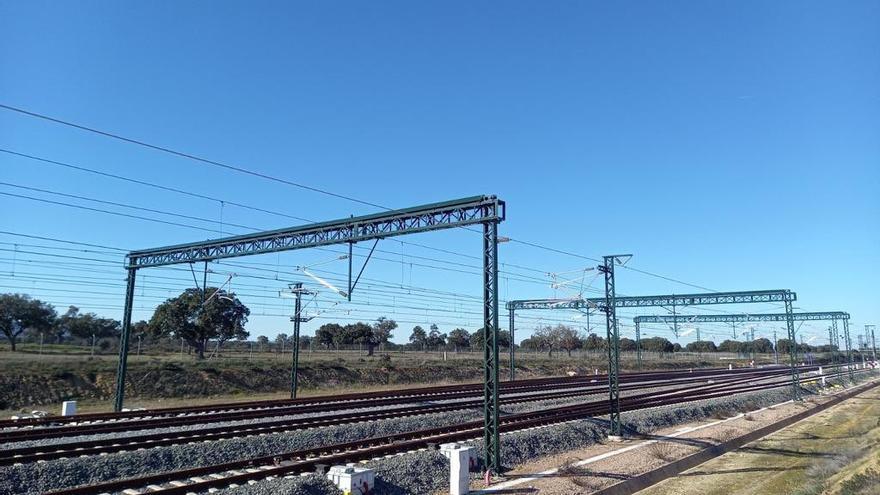
M501 472L498 431L498 222L483 223L483 389L486 469Z

